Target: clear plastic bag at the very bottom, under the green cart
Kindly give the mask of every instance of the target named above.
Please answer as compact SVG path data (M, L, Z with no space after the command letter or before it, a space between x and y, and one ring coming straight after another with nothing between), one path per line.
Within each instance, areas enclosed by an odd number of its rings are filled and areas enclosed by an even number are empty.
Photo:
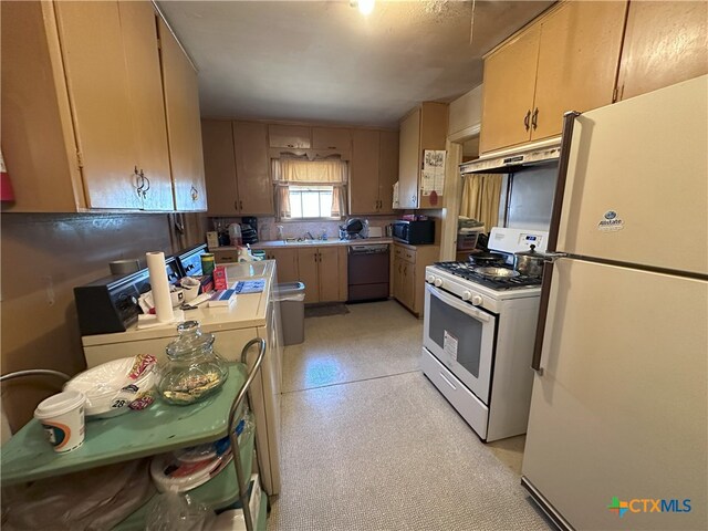
M206 531L216 514L204 503L196 503L189 494L176 491L155 497L147 511L146 531Z

